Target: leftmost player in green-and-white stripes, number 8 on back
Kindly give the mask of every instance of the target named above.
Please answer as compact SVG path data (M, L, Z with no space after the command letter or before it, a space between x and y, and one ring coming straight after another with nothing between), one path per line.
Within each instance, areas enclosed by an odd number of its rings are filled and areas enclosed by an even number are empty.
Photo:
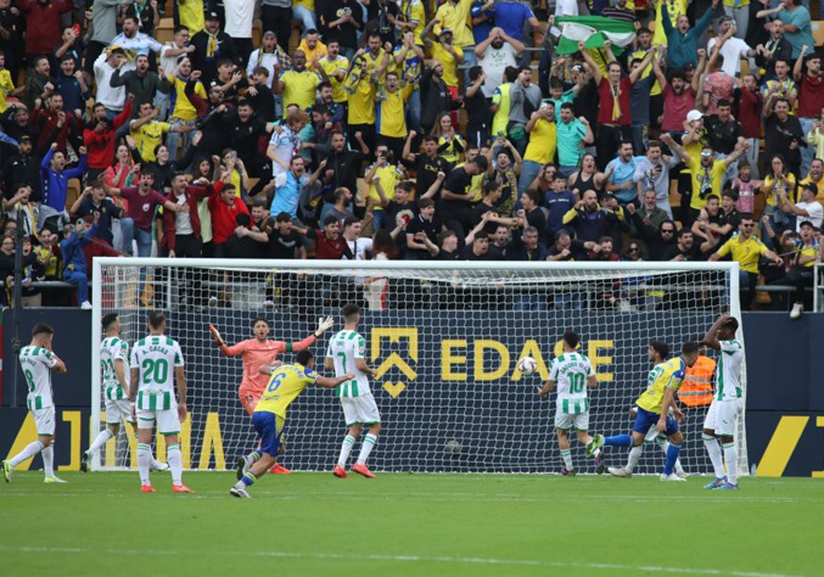
M20 453L2 462L6 482L12 481L12 471L21 462L41 453L44 482L65 483L54 476L54 401L52 400L51 370L66 372L66 364L52 352L54 329L49 325L35 325L31 330L31 343L20 349L20 367L26 377L26 406L35 420L37 440L26 445Z

